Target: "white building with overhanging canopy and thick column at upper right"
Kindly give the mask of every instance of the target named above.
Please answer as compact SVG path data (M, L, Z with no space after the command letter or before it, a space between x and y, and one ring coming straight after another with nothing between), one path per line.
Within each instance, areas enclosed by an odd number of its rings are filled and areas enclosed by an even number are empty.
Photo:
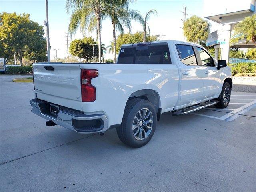
M232 34L234 34L235 25L245 17L255 14L255 0L242 0L241 3L242 6L239 7L243 8L243 10L206 17L222 25L220 30L210 33L206 41L207 46L214 46L216 60L218 60L219 51L221 52L220 59L228 62L230 48L256 48L255 44L251 41L246 44L245 39L239 40L233 44L230 43L230 38L232 38Z

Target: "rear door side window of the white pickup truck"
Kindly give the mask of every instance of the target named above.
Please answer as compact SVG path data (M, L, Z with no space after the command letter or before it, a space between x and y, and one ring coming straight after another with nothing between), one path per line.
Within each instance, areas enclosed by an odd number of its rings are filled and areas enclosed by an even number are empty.
M194 49L190 45L177 45L182 63L190 66L198 65Z

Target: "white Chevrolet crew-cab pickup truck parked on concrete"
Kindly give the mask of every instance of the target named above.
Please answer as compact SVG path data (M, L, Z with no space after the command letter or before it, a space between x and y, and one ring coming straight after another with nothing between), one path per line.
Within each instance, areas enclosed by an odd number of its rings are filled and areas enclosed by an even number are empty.
M147 144L164 112L226 108L232 88L226 61L180 41L126 44L117 64L38 63L32 112L82 134L117 129L125 144Z

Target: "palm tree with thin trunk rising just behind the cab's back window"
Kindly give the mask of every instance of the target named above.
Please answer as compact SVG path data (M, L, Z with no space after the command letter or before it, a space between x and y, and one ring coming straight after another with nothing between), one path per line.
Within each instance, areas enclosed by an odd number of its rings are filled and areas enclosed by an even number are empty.
M107 14L113 26L113 54L116 63L116 31L124 34L124 26L131 32L131 20L143 23L143 18L137 10L129 10L129 3L134 0L111 0L108 4Z

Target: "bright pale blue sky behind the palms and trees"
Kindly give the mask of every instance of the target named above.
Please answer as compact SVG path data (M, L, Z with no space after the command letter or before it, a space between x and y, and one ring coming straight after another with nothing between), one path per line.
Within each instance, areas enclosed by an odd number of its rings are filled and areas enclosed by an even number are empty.
M204 18L226 13L226 11L242 10L249 2L250 0L137 0L134 4L130 4L129 8L138 10L142 16L148 10L156 9L158 16L152 16L148 22L151 34L165 35L161 40L183 40L183 31L180 28L183 25L181 19L184 19L181 12L184 11L183 6L187 8L187 18L192 15ZM66 0L48 0L51 59L56 56L54 49L59 49L58 58L67 56L64 36L68 30L70 14L67 14L65 5ZM46 20L45 0L0 0L0 12L29 13L30 19L40 25L44 25ZM211 32L221 27L220 24L208 21L211 23ZM142 31L142 26L132 22L132 32L137 31ZM96 39L96 32L86 36ZM68 39L76 38L83 38L80 30ZM109 19L106 19L102 23L102 43L108 46L110 41L112 41L112 24ZM112 54L108 54L107 58L112 58Z

